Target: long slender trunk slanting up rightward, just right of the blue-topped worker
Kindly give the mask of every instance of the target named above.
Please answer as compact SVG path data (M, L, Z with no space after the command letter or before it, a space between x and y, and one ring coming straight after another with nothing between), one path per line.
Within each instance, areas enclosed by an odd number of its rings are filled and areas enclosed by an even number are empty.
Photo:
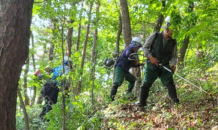
M91 2L91 5L90 5L90 10L89 10L89 14L88 14L89 24L87 25L86 38L85 38L85 41L83 43L82 62L81 62L81 66L80 66L81 70L82 70L81 73L80 73L81 76L83 75L83 66L84 66L85 56L86 56L86 46L87 46L87 42L88 42L88 38L89 38L89 29L90 29L92 6L93 6L93 2ZM77 94L79 94L81 92L81 86L82 86L82 77L80 77L80 80L79 80L78 85L77 85Z

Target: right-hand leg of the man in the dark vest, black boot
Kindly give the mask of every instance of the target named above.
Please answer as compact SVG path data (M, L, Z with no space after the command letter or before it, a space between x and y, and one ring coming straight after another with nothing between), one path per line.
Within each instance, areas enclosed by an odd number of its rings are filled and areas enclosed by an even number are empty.
M163 85L167 87L170 98L174 102L178 103L179 99L177 98L176 87L173 81L173 75L168 71L163 71L160 74L160 79Z

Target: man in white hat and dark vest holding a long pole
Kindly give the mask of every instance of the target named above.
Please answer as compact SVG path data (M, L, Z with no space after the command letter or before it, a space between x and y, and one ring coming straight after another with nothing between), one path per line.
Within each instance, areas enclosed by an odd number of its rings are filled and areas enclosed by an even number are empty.
M139 106L142 111L146 105L149 89L158 77L167 87L170 98L176 103L179 102L172 74L159 66L162 64L173 71L176 69L177 43L175 39L172 39L173 30L169 28L170 17L168 16L165 21L164 31L161 33L154 32L143 45L143 51L147 57L147 66L145 67L144 80L140 91Z

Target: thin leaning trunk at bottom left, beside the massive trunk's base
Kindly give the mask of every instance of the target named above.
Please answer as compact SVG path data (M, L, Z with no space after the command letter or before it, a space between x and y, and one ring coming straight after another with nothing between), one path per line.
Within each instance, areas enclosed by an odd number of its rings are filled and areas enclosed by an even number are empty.
M25 126L26 126L26 130L29 130L29 116L27 114L27 111L26 111L26 107L25 107L25 104L23 102L23 98L22 98L22 95L20 93L20 89L18 88L17 90L17 94L20 98L20 104L21 104L21 108L23 109L23 114L24 114L24 119L25 119Z

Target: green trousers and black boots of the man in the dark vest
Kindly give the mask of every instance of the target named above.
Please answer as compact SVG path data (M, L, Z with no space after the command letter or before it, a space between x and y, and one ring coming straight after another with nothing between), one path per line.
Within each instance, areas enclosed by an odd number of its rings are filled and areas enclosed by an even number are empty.
M167 87L170 98L173 99L175 102L178 101L176 87L173 81L172 74L161 68L158 68L156 70L151 70L149 67L146 67L145 74L144 74L144 80L141 85L141 91L140 91L139 102L141 106L146 105L146 100L149 95L149 89L152 86L153 82L158 77L161 79L161 82L163 83L163 85Z

